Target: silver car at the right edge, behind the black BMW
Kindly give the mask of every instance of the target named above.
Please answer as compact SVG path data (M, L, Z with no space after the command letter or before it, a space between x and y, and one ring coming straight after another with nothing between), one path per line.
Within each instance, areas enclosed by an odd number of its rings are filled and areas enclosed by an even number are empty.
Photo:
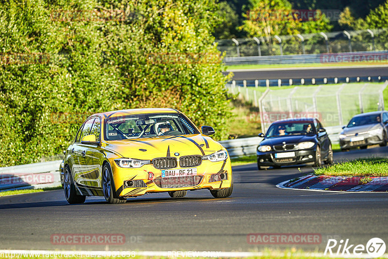
M339 135L341 150L357 147L367 148L379 144L387 146L388 112L361 113L354 116Z

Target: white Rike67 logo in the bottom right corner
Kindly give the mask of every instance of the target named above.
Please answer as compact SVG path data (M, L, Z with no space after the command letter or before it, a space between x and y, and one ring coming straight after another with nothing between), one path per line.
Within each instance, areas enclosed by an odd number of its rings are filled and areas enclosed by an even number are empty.
M384 255L386 251L385 242L381 238L372 238L366 245L363 244L351 244L349 239L344 241L341 239L339 242L335 239L329 239L324 250L324 255L329 253L330 256L334 255L354 255L356 257L376 258Z

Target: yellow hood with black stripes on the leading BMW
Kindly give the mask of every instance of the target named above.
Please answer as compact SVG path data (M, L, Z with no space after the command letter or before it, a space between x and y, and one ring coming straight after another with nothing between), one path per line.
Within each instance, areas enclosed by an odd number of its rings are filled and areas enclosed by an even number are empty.
M141 160L169 156L210 155L225 149L218 142L201 134L106 141L105 148L125 158Z

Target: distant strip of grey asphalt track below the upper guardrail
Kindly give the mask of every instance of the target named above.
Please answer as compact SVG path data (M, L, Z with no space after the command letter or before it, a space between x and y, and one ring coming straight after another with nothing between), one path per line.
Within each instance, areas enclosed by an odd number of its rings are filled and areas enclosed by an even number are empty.
M271 68L271 69L242 69L231 70L233 80L255 79L299 79L299 78L335 78L335 77L376 77L388 76L388 66L378 67L347 67L332 66L330 68ZM227 74L227 72L224 72Z

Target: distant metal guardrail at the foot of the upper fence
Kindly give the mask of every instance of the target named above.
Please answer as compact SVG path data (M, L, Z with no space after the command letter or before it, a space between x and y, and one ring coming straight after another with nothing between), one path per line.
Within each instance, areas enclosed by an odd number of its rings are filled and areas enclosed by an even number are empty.
M388 50L359 51L344 53L299 54L277 56L225 57L225 65L271 65L271 64L333 64L338 62L374 62L376 64L388 60Z

